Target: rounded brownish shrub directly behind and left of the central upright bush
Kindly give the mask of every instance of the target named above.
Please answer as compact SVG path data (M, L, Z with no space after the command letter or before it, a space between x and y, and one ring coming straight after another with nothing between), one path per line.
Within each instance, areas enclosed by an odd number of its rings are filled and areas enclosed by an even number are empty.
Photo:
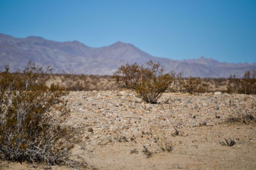
M124 88L135 88L140 78L140 71L137 63L126 64L121 66L115 73L113 73L113 79Z

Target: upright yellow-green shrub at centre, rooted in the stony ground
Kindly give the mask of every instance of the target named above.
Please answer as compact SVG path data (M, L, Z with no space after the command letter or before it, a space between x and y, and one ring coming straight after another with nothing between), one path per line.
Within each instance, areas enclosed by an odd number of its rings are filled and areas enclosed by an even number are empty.
M174 72L163 73L163 67L151 60L138 70L139 81L134 84L135 92L143 101L155 104L173 82Z

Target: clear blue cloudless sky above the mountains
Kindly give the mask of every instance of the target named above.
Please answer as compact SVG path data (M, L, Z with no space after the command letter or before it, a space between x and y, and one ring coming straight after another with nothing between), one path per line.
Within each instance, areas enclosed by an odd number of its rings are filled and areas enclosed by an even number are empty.
M0 33L256 62L256 0L0 0Z

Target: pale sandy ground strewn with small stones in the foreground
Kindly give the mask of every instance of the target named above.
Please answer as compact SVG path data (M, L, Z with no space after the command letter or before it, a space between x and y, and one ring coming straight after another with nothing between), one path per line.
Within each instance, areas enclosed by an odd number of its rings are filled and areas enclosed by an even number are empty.
M159 104L146 104L133 91L75 91L64 99L71 113L63 124L80 131L72 159L89 168L256 169L256 95L164 93ZM236 144L223 146L225 139Z

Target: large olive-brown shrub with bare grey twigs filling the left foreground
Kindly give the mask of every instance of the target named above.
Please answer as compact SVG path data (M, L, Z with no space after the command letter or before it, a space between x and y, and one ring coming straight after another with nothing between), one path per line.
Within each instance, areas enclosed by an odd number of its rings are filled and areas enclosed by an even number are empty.
M50 71L30 62L23 72L9 73L8 66L0 72L0 159L68 164L74 133L52 113L67 92L56 84L46 87Z

